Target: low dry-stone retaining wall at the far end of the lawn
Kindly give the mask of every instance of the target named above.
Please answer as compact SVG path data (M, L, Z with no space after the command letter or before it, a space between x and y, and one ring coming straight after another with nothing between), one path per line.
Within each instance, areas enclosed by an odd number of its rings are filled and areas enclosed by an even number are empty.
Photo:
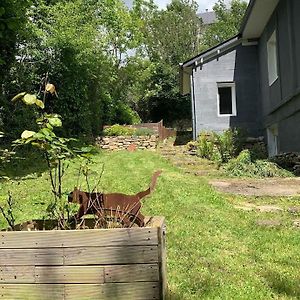
M149 149L155 150L158 137L152 136L106 136L98 137L96 145L102 149L108 150L135 150Z

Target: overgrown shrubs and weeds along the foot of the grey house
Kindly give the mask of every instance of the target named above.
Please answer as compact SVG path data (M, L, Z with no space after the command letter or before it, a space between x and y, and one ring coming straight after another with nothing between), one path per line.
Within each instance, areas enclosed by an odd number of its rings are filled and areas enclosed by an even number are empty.
M267 160L266 146L254 142L246 147L246 133L239 129L228 129L222 133L201 132L196 142L187 145L196 149L198 156L222 166L234 177L290 177L293 174Z

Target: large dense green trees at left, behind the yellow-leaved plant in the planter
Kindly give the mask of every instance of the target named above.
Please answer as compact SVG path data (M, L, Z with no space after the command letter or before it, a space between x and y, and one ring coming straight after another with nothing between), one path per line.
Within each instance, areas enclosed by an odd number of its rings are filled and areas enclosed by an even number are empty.
M64 134L98 135L103 124L133 122L136 116L123 99L124 87L116 88L119 57L134 40L127 36L133 24L122 1L107 0L105 9L97 0L31 4L22 12L26 34L16 43L1 86L0 125L7 136L16 138L34 118L28 107L12 106L12 96L20 90L39 90L46 74L59 93L58 98L47 99L46 111L62 116ZM120 20L125 27L121 32Z

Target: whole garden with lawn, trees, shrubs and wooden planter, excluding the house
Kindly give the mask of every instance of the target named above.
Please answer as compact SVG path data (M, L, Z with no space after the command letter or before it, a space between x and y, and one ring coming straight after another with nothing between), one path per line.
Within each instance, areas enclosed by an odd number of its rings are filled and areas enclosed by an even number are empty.
M297 178L253 193L294 163L236 130L138 127L191 126L178 64L238 33L230 5L207 30L195 1L1 1L1 298L300 298Z

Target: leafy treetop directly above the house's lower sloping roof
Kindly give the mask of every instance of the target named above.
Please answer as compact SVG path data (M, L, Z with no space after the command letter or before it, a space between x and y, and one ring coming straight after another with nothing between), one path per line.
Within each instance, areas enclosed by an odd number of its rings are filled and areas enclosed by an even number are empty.
M217 22L210 25L203 35L206 48L213 47L238 34L247 9L247 2L232 0L230 7L225 0L219 0L213 7Z

